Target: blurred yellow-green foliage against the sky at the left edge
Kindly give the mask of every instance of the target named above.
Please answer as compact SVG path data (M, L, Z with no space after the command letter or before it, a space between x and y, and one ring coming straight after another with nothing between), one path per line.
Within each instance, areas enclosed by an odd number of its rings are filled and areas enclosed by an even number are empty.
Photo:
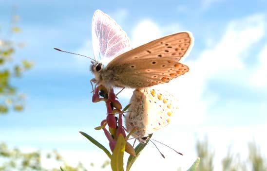
M19 16L15 15L15 8L11 19L11 28L4 38L0 30L0 114L6 114L13 108L21 111L24 108L25 95L19 94L15 86L11 85L13 78L21 77L22 73L33 67L33 62L15 58L17 48L22 48L23 43L12 41L12 37L21 30L17 26Z

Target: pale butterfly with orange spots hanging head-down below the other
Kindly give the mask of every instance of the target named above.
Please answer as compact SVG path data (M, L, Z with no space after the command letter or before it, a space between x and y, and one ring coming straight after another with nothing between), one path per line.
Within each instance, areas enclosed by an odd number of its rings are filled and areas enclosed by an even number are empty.
M177 99L170 93L147 87L135 89L125 115L127 132L145 144L149 134L168 125L177 113Z

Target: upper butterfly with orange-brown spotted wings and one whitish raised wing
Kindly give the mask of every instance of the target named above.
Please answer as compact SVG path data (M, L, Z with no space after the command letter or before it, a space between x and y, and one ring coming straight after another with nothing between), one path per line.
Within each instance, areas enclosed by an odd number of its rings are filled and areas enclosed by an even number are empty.
M127 34L116 22L100 10L92 21L92 41L95 60L92 79L97 85L143 88L168 83L189 71L179 60L193 46L190 32L180 32L130 48Z

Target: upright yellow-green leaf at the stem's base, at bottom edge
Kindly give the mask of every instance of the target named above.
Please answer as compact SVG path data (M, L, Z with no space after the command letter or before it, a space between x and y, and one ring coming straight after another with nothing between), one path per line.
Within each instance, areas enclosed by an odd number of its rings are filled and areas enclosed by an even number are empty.
M112 171L123 171L123 154L125 151L125 144L125 139L120 134L111 156L110 164Z

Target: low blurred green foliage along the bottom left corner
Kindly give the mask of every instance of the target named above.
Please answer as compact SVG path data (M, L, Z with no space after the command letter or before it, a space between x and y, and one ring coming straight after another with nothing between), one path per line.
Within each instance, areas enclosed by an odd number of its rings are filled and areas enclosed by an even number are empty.
M41 163L44 159L53 164L56 162L58 167L47 169L47 166L45 167ZM106 168L109 164L109 161L104 161L101 169ZM0 143L0 171L59 171L59 166L66 171L87 171L80 162L75 167L68 165L56 150L46 154L40 151L23 153L18 148L11 149L6 144ZM48 167L51 168L51 166ZM95 166L92 163L90 167Z

